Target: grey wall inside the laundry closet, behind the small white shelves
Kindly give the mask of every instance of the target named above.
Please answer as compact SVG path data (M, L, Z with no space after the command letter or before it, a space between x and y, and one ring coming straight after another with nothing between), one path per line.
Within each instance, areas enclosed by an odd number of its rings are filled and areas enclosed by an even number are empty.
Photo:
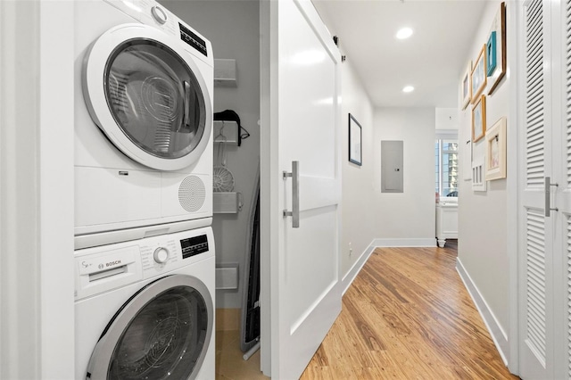
M236 214L215 214L212 223L216 263L238 264L239 289L217 291L218 308L241 307L246 235L250 224L252 192L260 161L260 11L258 1L161 1L212 43L215 59L236 60L236 88L214 88L214 112L234 110L251 136L242 146L228 146L227 168L244 207ZM216 164L218 147L214 146ZM248 247L249 250L249 247Z

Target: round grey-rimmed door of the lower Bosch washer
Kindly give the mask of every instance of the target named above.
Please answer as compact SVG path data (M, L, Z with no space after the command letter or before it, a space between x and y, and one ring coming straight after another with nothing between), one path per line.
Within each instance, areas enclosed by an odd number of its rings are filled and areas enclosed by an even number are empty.
M162 277L131 297L105 327L87 378L195 378L211 341L212 316L202 281Z

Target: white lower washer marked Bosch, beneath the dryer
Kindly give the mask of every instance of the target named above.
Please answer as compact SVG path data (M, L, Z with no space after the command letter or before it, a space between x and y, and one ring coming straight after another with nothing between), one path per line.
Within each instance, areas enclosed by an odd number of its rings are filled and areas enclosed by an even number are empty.
M211 227L75 252L76 379L215 376Z

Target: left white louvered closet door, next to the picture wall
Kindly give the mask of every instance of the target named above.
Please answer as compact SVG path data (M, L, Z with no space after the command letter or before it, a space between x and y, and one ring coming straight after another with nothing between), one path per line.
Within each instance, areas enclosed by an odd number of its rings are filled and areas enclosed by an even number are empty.
M523 6L520 56L522 105L518 123L522 225L519 244L519 366L525 379L553 378L553 227L545 217L544 178L551 171L550 1Z

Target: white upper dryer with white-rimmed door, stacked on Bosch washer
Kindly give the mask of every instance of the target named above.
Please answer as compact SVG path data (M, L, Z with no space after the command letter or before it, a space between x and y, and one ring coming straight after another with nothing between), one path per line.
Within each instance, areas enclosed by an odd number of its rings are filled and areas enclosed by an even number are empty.
M75 9L76 249L211 225L211 43L153 0Z

